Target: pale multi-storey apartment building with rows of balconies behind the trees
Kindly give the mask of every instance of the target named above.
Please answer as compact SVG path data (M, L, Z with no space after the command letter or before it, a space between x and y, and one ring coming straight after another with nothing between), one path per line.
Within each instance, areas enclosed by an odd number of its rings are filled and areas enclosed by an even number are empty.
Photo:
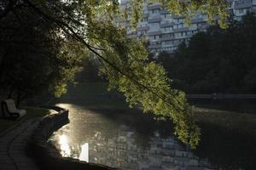
M256 0L229 0L231 14L236 20L241 20L241 16L248 11L256 12ZM130 0L121 0L120 8L130 8ZM129 16L131 17L131 16ZM138 38L145 36L148 38L148 49L153 53L166 51L174 53L181 42L188 42L198 31L206 31L209 27L207 14L197 14L191 19L191 25L184 23L183 16L170 14L161 8L160 3L143 5L143 20L137 24L137 29L131 28L129 18L124 21L123 26L127 30L127 36Z

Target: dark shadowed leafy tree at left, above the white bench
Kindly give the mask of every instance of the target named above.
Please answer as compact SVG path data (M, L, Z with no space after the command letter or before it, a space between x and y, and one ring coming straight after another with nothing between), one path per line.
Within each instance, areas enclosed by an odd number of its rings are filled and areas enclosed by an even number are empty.
M56 96L79 71L80 59L32 14L15 10L0 20L0 88L22 99L49 89ZM55 30L56 31L56 30Z

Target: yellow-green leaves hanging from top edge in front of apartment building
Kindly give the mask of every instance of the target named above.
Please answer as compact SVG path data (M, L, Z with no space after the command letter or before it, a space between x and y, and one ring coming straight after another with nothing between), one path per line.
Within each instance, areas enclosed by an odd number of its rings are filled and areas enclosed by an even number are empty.
M229 12L227 8L230 3L227 0L131 0L131 15L135 23L143 17L143 3L160 3L162 8L170 11L172 14L185 16L186 23L190 23L190 19L196 14L207 14L207 20L210 24L218 22L219 26L226 28ZM128 10L129 11L129 10ZM217 20L218 19L218 20Z

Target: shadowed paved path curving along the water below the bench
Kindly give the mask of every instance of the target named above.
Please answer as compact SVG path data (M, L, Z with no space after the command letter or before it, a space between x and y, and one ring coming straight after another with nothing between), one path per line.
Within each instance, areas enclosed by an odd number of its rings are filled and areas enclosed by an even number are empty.
M26 142L40 118L25 120L0 136L0 170L38 170L26 155Z

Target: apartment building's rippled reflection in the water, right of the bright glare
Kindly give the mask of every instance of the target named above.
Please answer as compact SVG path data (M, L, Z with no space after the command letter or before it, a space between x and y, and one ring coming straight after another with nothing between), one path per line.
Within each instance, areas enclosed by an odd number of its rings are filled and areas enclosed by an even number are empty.
M90 138L91 162L111 167L141 170L166 169L208 169L207 161L194 156L183 148L173 137L161 139L155 135L146 148L136 144L134 133L122 128L112 139L105 139L102 133Z

